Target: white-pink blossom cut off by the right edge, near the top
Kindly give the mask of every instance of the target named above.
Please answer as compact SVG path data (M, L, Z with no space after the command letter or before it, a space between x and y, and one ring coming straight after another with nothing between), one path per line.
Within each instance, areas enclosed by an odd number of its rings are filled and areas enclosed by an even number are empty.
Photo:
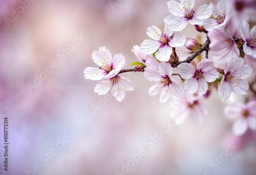
M244 53L256 58L256 26L249 31L249 24L245 20L241 20L239 28L242 38L245 41L243 45Z

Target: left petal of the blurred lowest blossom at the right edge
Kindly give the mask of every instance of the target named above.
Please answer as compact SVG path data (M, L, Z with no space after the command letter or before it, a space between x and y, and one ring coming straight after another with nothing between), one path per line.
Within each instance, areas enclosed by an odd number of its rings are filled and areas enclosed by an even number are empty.
M224 114L228 119L236 119L241 117L243 108L244 108L244 104L234 103L224 108Z

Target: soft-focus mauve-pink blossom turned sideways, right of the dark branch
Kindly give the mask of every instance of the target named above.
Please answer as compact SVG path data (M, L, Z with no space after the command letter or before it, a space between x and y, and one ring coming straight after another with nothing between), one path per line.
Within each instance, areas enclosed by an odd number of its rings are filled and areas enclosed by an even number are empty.
M220 65L224 65L228 60L239 57L240 52L233 35L221 29L208 32L210 39L209 49L214 56L213 59Z

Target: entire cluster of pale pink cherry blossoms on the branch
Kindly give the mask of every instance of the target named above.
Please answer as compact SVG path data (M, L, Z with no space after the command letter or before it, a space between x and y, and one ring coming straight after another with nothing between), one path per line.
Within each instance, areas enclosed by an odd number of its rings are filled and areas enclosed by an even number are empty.
M207 115L202 100L208 98L212 91L217 91L220 98L227 101L231 92L245 95L251 90L246 79L253 70L244 63L246 57L250 57L252 64L256 63L256 26L250 30L255 21L253 16L248 18L245 14L246 3L248 1L219 0L216 5L210 3L195 9L194 0L168 1L170 14L163 20L164 29L148 27L146 34L151 39L133 47L132 52L138 58L138 62L131 64L135 65L133 69L122 70L124 56L115 54L112 58L108 49L100 47L92 54L99 68L86 68L84 77L104 79L94 91L103 95L111 90L111 94L121 101L125 91L133 91L134 85L119 74L143 72L147 80L155 82L149 89L149 95L160 94L160 102L172 98L171 116L176 124L183 123L188 116L200 123ZM251 5L256 7L256 3ZM194 25L195 32L204 32L207 40L202 44L179 33L187 25ZM186 48L191 54L183 61L179 60L176 52L179 47ZM194 59L203 51L206 52L205 58ZM256 130L255 104L252 100L225 108L227 117L239 118L233 127L234 134L242 135L247 128Z

